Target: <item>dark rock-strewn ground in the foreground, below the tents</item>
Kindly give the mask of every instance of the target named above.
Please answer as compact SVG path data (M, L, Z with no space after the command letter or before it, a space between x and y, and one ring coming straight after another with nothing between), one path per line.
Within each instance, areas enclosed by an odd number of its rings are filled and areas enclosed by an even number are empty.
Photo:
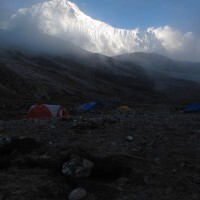
M79 187L87 200L200 199L199 122L164 106L1 120L0 199L78 199ZM74 158L92 163L86 175L63 174Z

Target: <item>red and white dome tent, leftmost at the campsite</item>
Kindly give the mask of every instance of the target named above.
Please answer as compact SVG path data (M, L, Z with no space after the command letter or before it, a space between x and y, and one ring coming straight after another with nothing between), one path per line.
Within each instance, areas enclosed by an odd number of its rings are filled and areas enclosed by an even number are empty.
M26 114L27 119L51 119L62 118L67 119L69 113L62 105L47 105L36 104L31 106L30 110Z

